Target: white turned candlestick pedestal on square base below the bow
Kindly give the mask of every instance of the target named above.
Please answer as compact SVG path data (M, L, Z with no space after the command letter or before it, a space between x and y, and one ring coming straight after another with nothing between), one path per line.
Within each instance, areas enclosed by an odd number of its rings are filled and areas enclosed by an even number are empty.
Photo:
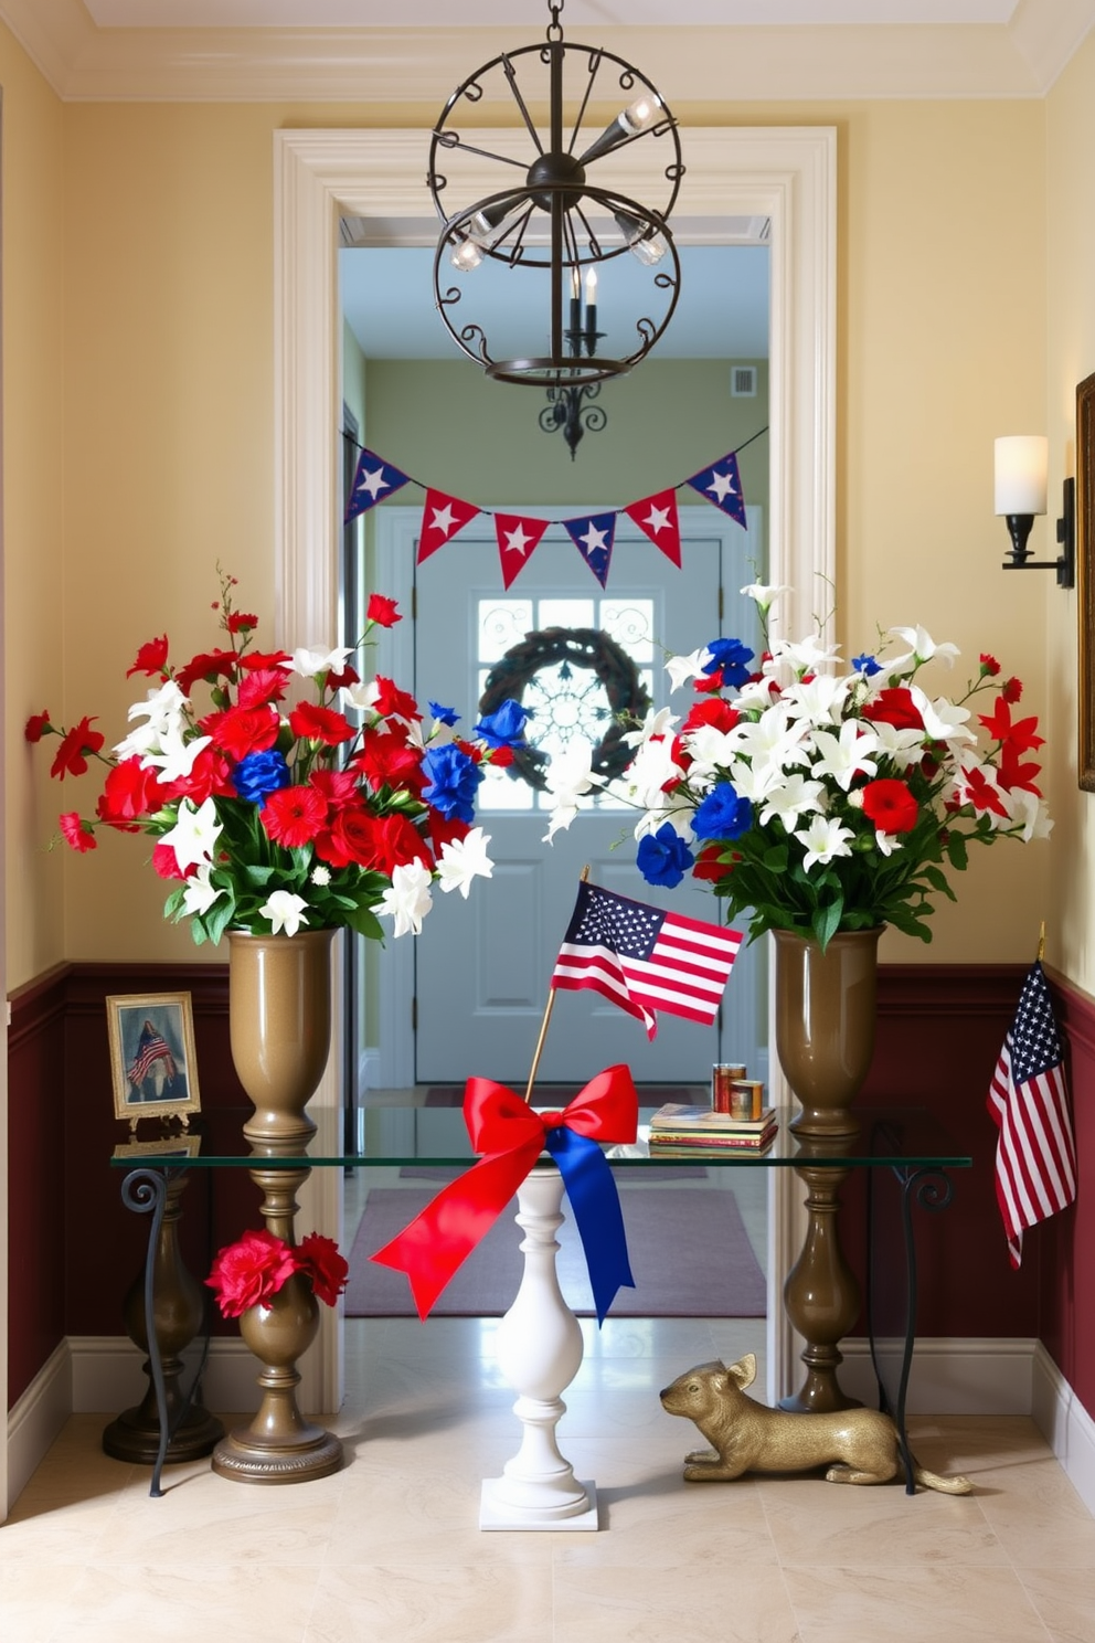
M555 1428L566 1413L560 1393L583 1357L581 1328L555 1272L561 1201L563 1178L553 1163L537 1165L517 1190L525 1268L517 1298L497 1329L497 1359L519 1393L514 1415L524 1434L502 1475L483 1480L481 1530L598 1528L596 1487L578 1482L555 1443Z

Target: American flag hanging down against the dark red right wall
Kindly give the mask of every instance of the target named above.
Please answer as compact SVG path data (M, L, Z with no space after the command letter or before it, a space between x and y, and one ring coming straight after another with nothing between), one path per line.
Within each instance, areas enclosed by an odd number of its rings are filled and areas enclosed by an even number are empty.
M988 1088L996 1140L996 1203L1011 1265L1023 1259L1023 1231L1075 1198L1075 1140L1061 1038L1041 963L1023 983L1019 1007Z

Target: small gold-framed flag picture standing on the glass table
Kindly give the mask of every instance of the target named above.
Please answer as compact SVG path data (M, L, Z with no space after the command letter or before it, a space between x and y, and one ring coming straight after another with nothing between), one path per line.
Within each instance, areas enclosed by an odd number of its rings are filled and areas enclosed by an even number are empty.
M107 999L115 1117L200 1112L194 1009L189 992L123 994Z

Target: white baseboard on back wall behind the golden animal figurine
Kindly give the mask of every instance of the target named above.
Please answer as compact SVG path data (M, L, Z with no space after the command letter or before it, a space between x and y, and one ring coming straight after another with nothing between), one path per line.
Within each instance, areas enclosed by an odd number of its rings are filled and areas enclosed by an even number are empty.
M906 1415L1029 1415L1034 1346L1029 1339L918 1339ZM849 1397L875 1403L878 1390L868 1341L842 1341L841 1351L841 1385ZM878 1344L885 1367L896 1369L900 1351L898 1341Z

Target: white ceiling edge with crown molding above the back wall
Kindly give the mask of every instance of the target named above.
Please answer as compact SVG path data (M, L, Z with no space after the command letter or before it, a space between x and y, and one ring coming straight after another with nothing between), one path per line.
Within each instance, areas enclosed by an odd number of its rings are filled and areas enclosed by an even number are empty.
M0 0L0 21L67 100L440 107L456 71L543 38L548 7ZM675 105L1041 97L1093 23L1095 0L566 0L563 12L568 39L657 64Z

